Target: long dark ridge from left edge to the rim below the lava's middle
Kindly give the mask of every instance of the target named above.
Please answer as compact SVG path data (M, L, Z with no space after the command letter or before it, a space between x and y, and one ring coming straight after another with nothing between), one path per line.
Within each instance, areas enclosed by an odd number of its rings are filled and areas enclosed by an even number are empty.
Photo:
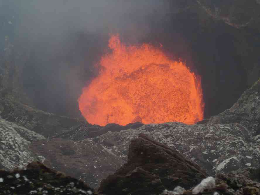
M58 137L70 140L93 138L107 133L107 131L121 131L138 128L143 125L139 122L126 126L118 124L107 124L104 127L91 125L84 119L69 118L36 110L12 98L0 99L0 116L7 121L35 131L45 137Z

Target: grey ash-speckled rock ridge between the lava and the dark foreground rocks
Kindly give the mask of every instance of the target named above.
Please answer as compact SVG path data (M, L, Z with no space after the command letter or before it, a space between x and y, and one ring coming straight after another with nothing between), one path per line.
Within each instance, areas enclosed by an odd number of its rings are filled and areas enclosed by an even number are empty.
M61 123L66 117L14 105L7 102L1 114L12 120L0 119L0 169L24 168L37 160L97 189L102 179L128 162L131 140L140 133L176 150L208 175L260 166L260 80L230 109L194 125L168 122L100 127L82 122L75 125L68 119L65 124L71 126L65 127ZM19 115L20 111L23 114ZM46 121L41 120L42 115ZM53 128L50 138L35 130L53 122L57 131Z

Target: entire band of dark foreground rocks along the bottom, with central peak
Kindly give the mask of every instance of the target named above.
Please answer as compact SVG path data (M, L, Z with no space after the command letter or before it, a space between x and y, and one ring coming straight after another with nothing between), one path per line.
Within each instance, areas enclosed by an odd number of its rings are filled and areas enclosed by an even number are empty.
M259 181L255 168L210 177L176 150L140 134L131 141L127 163L102 180L98 192L34 161L25 170L0 170L0 194L253 195L260 193Z

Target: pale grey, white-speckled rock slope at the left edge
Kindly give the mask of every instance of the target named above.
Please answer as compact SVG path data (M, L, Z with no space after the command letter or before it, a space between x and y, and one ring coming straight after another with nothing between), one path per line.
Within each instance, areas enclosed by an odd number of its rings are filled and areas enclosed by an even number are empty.
M44 136L0 119L0 168L11 170L23 168L33 160L43 160L29 149L33 141L45 139Z

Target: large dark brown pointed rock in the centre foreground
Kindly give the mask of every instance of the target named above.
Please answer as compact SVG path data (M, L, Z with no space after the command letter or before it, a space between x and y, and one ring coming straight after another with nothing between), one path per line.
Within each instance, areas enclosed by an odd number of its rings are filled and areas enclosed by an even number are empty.
M190 188L206 177L198 165L144 134L131 141L128 162L102 180L99 191L110 194L156 194L177 186Z

